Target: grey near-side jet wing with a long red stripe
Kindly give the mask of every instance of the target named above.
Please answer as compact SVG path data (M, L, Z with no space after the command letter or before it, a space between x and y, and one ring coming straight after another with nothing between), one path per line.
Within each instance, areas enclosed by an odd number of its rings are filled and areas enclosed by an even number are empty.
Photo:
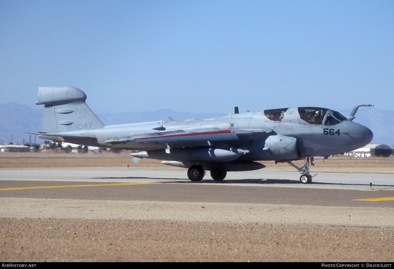
M130 136L120 139L108 140L105 143L121 144L130 141L137 143L151 142L197 142L197 141L217 141L217 140L238 140L238 136L231 130L205 130L199 132L186 132L183 130L151 133L146 135Z

